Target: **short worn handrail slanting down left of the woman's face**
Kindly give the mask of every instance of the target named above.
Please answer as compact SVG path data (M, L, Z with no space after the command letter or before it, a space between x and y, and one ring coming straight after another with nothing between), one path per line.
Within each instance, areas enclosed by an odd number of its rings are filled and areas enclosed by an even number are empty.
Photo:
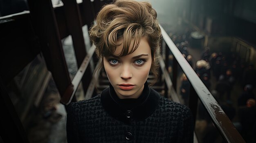
M69 88L67 88L65 94L62 96L61 103L68 105L71 102L71 100L74 97L74 94L76 93L76 90L80 84L80 81L83 78L85 70L87 69L87 67L90 63L90 60L92 59L92 55L94 54L95 48L96 47L94 45L91 46L90 50L88 51L88 54L83 59L83 63L77 70L76 75L74 76L74 78L72 80L72 85Z

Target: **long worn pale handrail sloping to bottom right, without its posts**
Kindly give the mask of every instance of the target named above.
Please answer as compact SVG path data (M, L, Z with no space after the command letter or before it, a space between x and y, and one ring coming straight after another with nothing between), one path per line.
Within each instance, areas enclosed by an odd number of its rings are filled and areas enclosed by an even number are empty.
M219 130L222 138L227 143L245 143L242 136L236 130L232 122L229 120L225 112L222 110L218 102L211 95L211 92L202 83L198 75L195 73L193 68L189 65L186 59L182 56L178 48L175 46L171 38L164 31L163 27L159 25L162 31L163 40L166 42L167 46L173 53L173 56L177 60L178 64L182 68L186 77L189 79L192 87L197 93L200 101L202 102L204 108L209 113L214 125ZM193 111L192 111L193 112Z

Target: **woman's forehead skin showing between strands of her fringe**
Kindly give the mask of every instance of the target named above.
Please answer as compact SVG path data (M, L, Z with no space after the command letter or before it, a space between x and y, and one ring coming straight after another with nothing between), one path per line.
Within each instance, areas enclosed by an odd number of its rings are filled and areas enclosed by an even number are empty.
M119 55L121 54L121 52L123 50L124 43L123 43L122 39L118 40L117 43L121 44L121 45L117 46L114 53L112 53L112 54L115 55L115 56L121 57ZM131 44L130 44L130 47L129 47L129 52L133 49L132 43L133 43L133 40L131 41ZM130 53L129 55L138 55L138 54L151 55L151 49L150 49L150 46L148 44L148 40L145 37L141 38L141 40L139 42L139 46L137 47L137 49L134 52ZM125 55L125 56L128 56L128 55Z

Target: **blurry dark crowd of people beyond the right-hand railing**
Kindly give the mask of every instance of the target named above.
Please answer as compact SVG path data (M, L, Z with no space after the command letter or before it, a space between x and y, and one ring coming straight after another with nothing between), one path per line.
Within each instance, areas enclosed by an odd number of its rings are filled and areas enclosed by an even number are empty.
M256 70L254 64L245 62L238 53L216 52L214 48L209 47L205 47L200 57L196 57L199 60L193 63L193 55L189 53L188 48L195 47L189 45L189 38L191 38L189 31L181 35L170 35L170 37L245 141L255 143L256 106L254 92L256 91ZM169 56L169 60L173 60L173 55ZM185 105L189 103L190 86L186 75L182 74L180 95ZM238 90L242 91L241 94L235 92ZM218 139L218 131L201 103L198 107L198 128L203 130L202 142L214 143Z

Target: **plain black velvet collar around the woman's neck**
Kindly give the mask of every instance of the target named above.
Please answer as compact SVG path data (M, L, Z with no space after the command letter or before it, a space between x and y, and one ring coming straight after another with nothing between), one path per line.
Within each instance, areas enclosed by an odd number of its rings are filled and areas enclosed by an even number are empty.
M132 103L132 105L129 105ZM141 121L148 118L159 103L159 93L148 87L147 82L141 96L137 99L119 99L114 88L101 92L101 104L108 114L119 121L130 123L132 119Z

